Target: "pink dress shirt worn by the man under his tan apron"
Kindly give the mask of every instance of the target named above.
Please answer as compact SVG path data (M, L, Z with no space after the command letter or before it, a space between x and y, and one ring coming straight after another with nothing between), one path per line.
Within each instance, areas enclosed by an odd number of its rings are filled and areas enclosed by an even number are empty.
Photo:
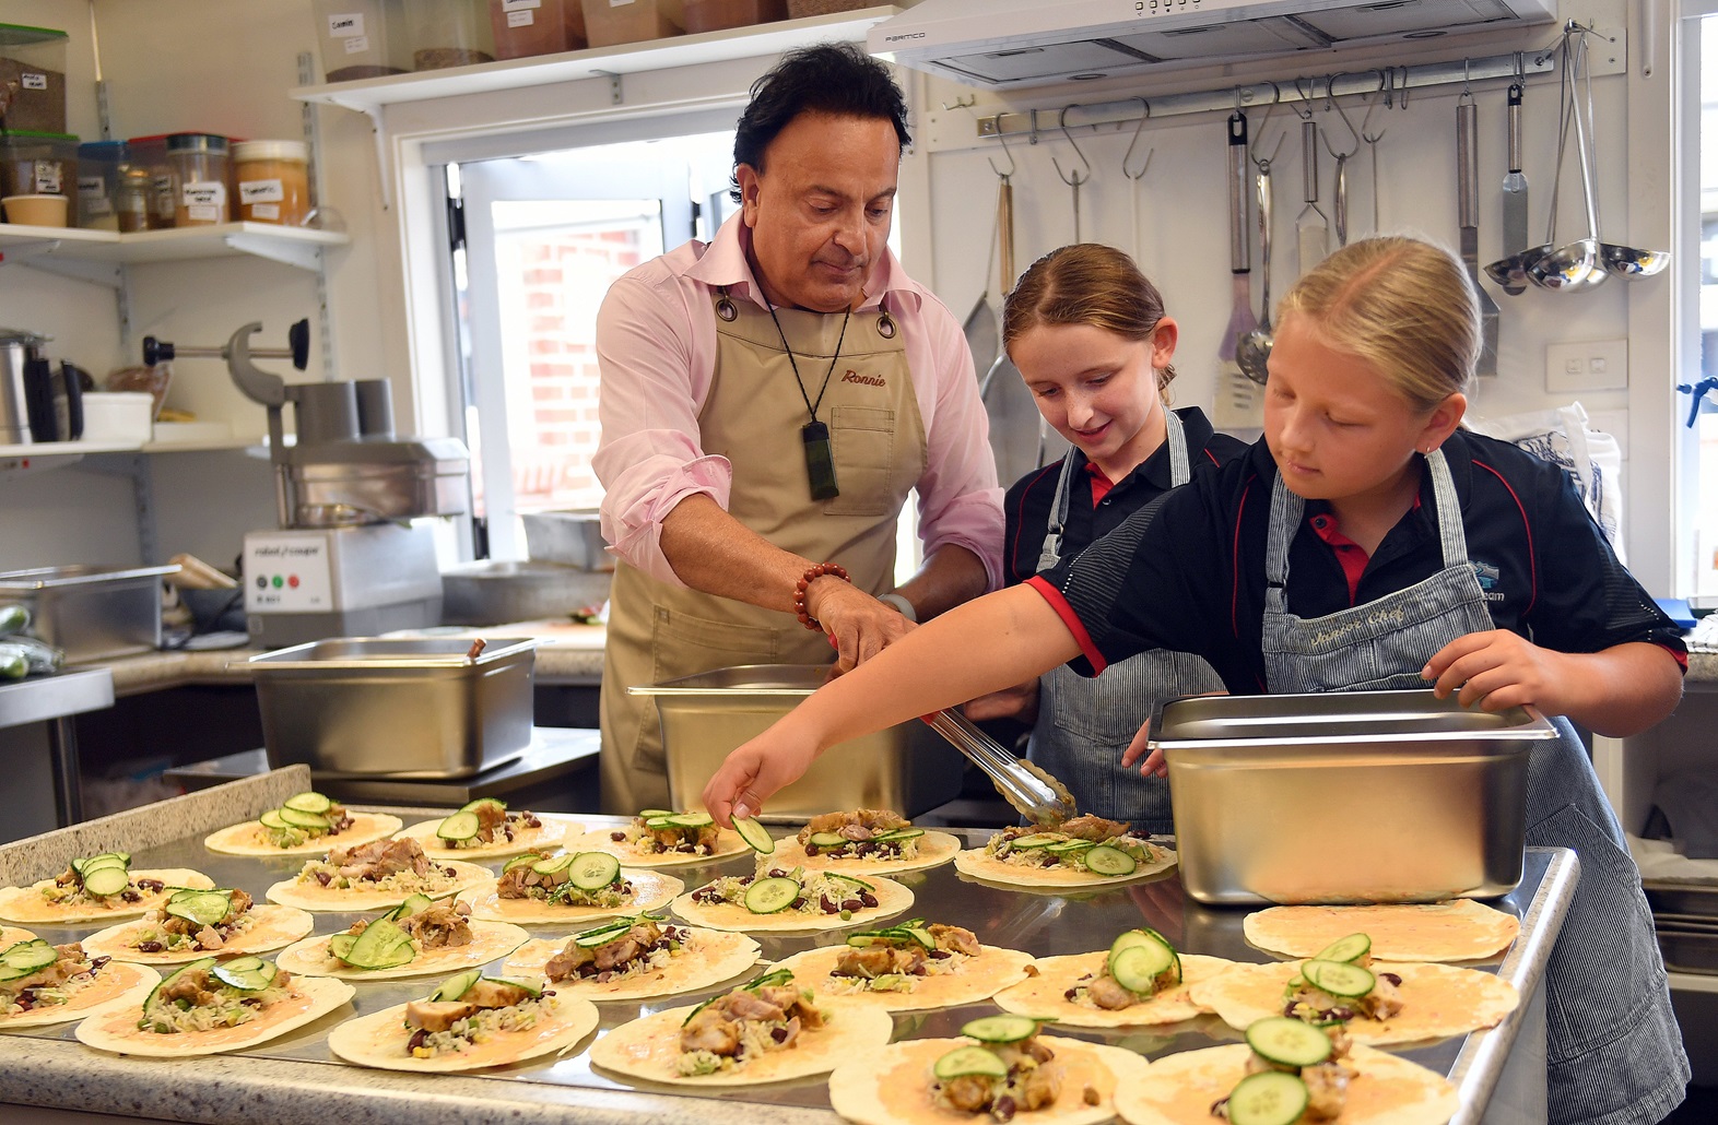
M603 436L593 467L603 483L603 538L651 577L685 586L661 553L661 520L692 493L723 510L734 472L704 453L698 414L716 359L713 292L763 306L746 261L749 230L734 215L713 242L687 242L617 280L596 313ZM924 419L928 467L917 481L919 539L929 555L964 546L1002 584L1002 490L972 354L948 307L907 277L892 252L871 275L864 309L900 325Z

